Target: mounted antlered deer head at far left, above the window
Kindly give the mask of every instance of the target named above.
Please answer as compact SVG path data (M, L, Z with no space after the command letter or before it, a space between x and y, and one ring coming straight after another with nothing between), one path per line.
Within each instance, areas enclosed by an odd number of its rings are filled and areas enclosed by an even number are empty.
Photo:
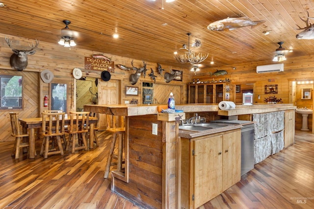
M39 44L39 41L36 39L36 44L34 46L34 43L32 43L32 46L28 43L28 45L31 47L31 49L28 50L19 50L15 49L11 46L12 41L9 40L9 38L4 37L6 43L10 46L12 51L14 52L10 57L10 65L12 69L16 69L18 71L22 71L26 69L27 66L27 54L33 55L36 51L34 48L36 48Z

